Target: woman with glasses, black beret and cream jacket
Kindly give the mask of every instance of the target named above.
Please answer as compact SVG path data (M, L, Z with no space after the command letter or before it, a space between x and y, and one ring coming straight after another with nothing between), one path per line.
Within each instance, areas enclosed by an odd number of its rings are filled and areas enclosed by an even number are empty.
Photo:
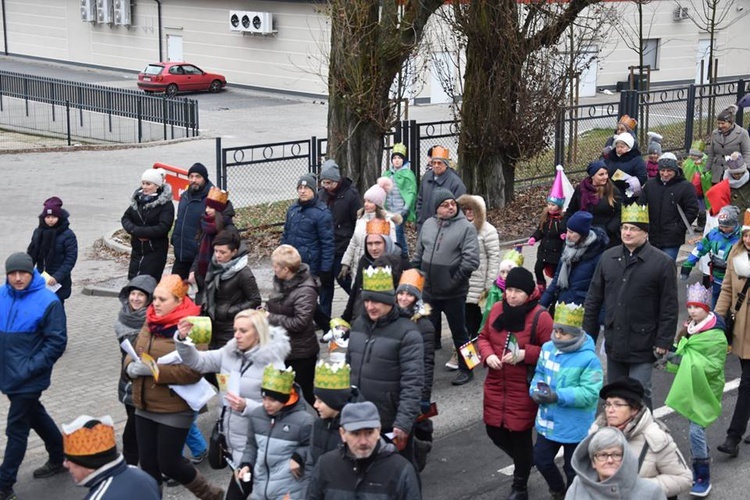
M599 397L605 401L604 412L589 434L603 427L622 431L631 453L638 457L638 475L658 484L667 497L677 497L690 491L693 474L672 435L643 404L643 396L643 385L632 378L602 387Z

